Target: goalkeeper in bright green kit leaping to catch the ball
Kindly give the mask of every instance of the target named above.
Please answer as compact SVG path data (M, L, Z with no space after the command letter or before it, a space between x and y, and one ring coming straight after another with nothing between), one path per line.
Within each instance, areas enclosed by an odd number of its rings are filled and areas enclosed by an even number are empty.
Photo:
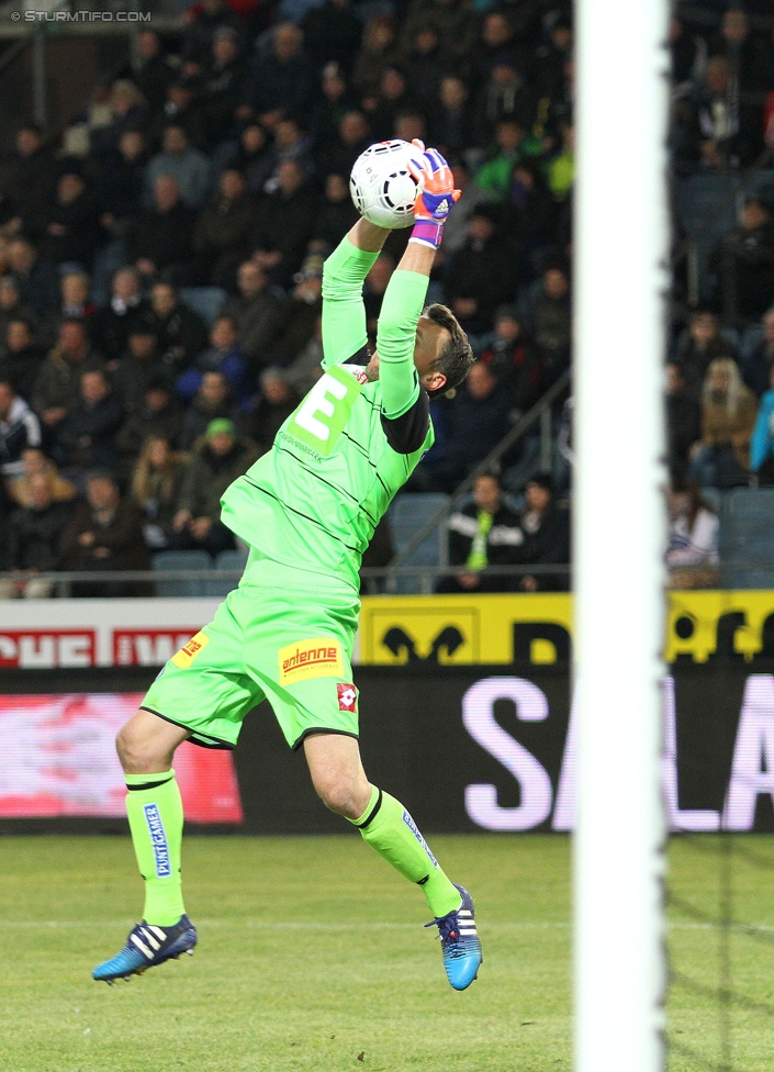
M325 263L324 375L272 450L223 496L224 523L250 548L239 587L170 659L119 734L145 911L94 979L128 978L192 950L175 749L187 739L233 748L245 715L265 697L291 748L303 748L324 803L422 887L451 985L464 990L478 972L470 895L444 873L403 805L366 778L350 666L361 555L433 444L429 398L461 383L472 364L449 310L423 311L444 219L459 193L444 158L415 146L415 223L384 294L377 351L366 348L362 284L390 232L361 219Z

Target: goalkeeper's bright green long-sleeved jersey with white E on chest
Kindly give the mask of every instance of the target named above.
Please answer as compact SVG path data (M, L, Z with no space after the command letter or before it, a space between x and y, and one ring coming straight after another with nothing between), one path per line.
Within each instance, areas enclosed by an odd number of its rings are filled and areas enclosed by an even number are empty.
M345 238L326 260L323 376L222 500L224 524L250 547L355 589L374 528L434 440L414 367L426 276L393 272L377 331L379 379L366 379L362 284L377 256Z

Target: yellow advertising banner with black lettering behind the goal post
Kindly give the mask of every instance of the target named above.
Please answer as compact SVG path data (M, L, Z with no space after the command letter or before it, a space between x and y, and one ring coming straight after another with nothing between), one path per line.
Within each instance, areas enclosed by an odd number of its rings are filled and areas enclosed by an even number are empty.
M601 591L602 598L602 591ZM626 630L637 607L626 588L610 601L609 629ZM402 666L571 661L572 596L366 596L360 615L360 662ZM747 663L774 656L774 592L671 592L664 657L668 662Z

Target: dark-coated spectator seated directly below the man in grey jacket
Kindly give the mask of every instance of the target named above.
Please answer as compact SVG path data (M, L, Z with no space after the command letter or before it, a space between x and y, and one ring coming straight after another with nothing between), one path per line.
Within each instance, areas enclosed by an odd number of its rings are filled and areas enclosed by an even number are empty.
M149 282L184 284L190 277L191 236L195 214L180 200L177 179L161 175L153 188L154 208L144 212L126 237L126 255Z

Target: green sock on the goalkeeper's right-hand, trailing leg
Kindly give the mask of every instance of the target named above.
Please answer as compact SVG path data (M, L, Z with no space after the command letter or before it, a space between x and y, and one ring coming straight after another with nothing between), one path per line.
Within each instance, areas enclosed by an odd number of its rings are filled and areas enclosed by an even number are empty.
M422 886L434 916L459 908L459 890L444 874L414 819L394 796L372 785L368 807L360 818L349 822L388 863Z

